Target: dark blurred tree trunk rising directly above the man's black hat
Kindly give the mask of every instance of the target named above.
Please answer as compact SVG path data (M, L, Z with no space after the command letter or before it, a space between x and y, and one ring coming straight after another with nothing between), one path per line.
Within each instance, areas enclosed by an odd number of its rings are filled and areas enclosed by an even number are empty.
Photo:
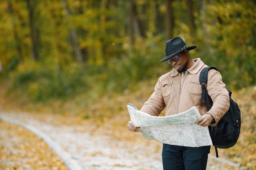
M166 39L173 38L174 17L172 11L172 0L166 0Z

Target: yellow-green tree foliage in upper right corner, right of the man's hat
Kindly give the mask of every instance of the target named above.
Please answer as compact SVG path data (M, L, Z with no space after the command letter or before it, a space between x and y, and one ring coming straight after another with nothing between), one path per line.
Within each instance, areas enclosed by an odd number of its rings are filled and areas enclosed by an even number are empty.
M198 30L200 57L217 66L223 81L236 89L256 84L254 7L249 1L208 4L207 24Z

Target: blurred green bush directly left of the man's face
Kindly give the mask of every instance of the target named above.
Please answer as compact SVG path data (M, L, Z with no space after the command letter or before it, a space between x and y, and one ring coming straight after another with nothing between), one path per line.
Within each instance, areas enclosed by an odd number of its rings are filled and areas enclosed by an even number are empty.
M157 48L159 42L164 42L163 38L148 38L148 40L138 41L136 46L131 48L129 52L121 55L118 59L112 59L107 66L107 81L104 86L109 91L124 91L126 88L136 90L136 85L147 79L155 78L166 70L163 63L159 63L165 54L162 49ZM165 44L165 43L162 43ZM166 66L166 65L164 65Z

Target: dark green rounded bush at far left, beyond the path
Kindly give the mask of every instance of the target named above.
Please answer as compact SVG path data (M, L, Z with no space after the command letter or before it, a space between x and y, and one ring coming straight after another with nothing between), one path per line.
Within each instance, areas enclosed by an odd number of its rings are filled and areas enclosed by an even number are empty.
M47 65L47 67L45 67ZM23 70L24 67L29 69ZM71 64L65 68L49 63L29 62L13 75L9 91L21 89L34 102L48 99L67 99L87 88L81 66Z

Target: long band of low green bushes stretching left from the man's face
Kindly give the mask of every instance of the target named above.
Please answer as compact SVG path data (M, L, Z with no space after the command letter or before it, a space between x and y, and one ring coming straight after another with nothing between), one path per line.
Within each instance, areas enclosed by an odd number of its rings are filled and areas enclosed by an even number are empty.
M144 46L130 48L129 52L112 58L105 66L28 61L13 72L9 91L21 89L34 102L41 102L67 99L81 92L104 94L122 92L126 88L136 90L139 82L152 78L157 81L169 66L158 62L164 57L164 52L156 48L157 42L162 42L162 38L149 38L143 41Z

